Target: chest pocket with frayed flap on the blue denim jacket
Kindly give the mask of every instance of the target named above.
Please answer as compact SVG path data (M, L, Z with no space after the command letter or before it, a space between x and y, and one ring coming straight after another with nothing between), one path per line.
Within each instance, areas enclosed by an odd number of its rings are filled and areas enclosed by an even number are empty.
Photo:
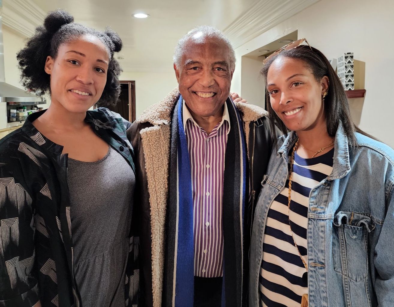
M355 282L365 281L368 272L368 233L375 222L362 213L339 211L333 220L334 270Z

